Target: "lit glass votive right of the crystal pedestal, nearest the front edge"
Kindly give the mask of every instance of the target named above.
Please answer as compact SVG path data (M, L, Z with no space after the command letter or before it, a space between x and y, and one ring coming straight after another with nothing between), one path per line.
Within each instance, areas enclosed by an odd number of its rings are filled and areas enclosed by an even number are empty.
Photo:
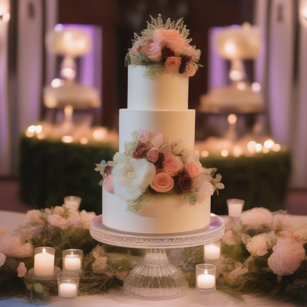
M196 291L210 293L216 289L216 266L202 263L196 266Z

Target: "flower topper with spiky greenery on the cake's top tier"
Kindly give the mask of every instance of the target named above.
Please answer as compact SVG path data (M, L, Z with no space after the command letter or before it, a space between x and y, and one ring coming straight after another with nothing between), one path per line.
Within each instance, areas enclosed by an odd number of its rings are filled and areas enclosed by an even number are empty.
M198 67L202 67L198 63L200 50L190 44L190 30L183 24L183 18L176 22L168 18L165 24L161 14L157 19L150 18L151 23L147 21L147 28L141 32L141 36L134 33L125 65L146 65L145 75L150 78L167 71L194 76Z

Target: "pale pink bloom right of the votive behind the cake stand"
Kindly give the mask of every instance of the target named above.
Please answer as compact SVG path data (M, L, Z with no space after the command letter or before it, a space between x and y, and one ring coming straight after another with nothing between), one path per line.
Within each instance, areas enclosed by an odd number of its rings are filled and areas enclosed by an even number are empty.
M257 229L261 226L268 226L272 221L273 215L269 209L266 208L252 208L242 212L240 220L243 225L247 225L252 229Z

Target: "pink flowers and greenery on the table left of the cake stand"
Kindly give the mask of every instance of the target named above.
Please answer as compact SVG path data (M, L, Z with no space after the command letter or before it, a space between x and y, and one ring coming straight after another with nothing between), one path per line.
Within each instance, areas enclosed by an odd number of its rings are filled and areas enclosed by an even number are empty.
M84 251L78 295L102 294L122 285L139 257L131 256L129 249L97 244L89 232L95 216L63 205L28 211L25 224L14 235L0 228L0 299L15 296L32 302L57 295L56 280L38 281L27 274L34 266L34 248L40 246L55 248L55 266L59 267L63 250Z

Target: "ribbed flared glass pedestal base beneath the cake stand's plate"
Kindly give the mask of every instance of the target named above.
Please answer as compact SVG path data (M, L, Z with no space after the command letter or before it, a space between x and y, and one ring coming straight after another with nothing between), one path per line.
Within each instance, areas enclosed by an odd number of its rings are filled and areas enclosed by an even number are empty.
M133 297L163 300L182 296L188 291L188 282L169 262L164 248L151 248L126 278L124 290Z

